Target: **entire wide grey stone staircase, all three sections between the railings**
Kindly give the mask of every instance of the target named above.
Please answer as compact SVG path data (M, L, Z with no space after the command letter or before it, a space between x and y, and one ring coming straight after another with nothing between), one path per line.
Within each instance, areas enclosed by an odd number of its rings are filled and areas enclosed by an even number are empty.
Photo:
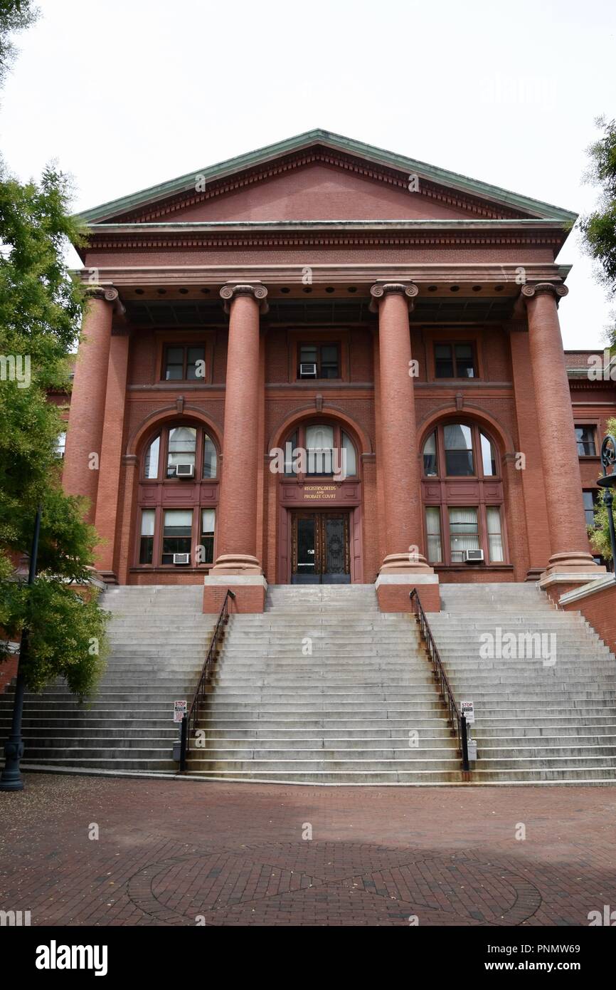
M202 593L107 591L99 691L85 706L60 683L28 694L24 766L177 772L172 704L192 698L216 619ZM428 620L458 701L475 702L473 783L616 781L616 661L581 616L531 584L447 584L441 597ZM12 703L0 695L0 743ZM231 616L197 728L194 777L462 782L415 622L380 613L372 585L271 586L263 615Z

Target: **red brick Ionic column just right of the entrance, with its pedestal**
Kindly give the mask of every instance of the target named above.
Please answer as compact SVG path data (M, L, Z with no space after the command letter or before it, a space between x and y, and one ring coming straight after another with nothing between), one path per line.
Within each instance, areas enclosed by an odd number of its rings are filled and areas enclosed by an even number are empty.
M387 595L383 590L383 579L390 575L392 584L404 587L406 599L403 577L394 580L394 575L405 575L408 586L413 586L415 580L419 586L436 585L438 596L437 578L421 552L423 515L408 324L408 310L418 289L413 284L392 282L373 285L370 292L379 310L381 451L377 464L382 473L385 505L385 557L377 590L382 608L398 611L388 605L390 601L394 603L392 588ZM418 590L421 594L419 587ZM422 590L427 597L426 589ZM430 598L426 605L438 608L436 600L432 601L434 594ZM401 609L403 596L398 594L396 601Z

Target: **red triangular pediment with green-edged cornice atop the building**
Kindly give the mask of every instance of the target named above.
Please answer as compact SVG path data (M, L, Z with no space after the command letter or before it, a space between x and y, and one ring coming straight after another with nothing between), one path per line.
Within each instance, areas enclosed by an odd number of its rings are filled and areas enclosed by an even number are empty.
M312 131L85 211L98 224L553 219L575 214Z

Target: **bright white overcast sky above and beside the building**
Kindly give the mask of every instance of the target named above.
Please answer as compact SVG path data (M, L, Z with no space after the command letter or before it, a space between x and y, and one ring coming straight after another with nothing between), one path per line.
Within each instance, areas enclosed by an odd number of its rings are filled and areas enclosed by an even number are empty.
M40 0L0 106L22 179L57 160L75 209L321 127L583 213L594 118L616 116L613 0ZM565 347L605 290L573 233Z

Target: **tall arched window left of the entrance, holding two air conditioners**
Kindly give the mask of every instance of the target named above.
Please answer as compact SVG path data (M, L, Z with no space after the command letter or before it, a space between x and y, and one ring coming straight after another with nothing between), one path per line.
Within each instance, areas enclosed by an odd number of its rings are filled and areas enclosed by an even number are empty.
M194 423L169 424L149 440L141 458L137 566L214 563L217 474L218 448Z

